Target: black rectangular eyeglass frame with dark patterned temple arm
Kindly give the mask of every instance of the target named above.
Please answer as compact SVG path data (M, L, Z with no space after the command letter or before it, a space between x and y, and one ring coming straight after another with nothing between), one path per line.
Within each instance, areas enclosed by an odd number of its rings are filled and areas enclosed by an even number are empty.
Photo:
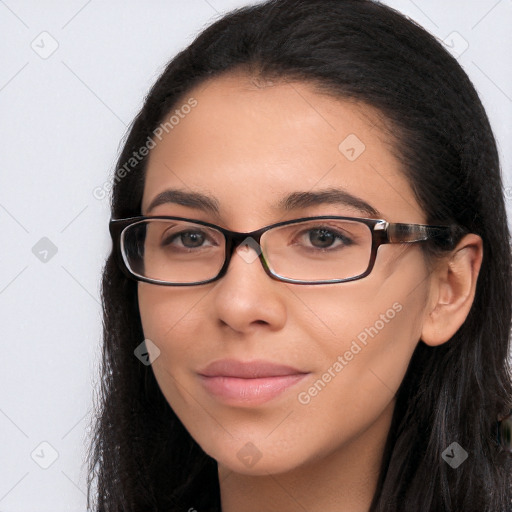
M192 283L170 283L167 281L159 281L157 279L152 279L149 277L142 276L140 274L134 273L130 270L128 262L126 261L123 248L122 248L122 234L126 228L131 226L132 224L138 224L147 220L181 220L190 222L193 224L199 224L202 226L207 226L209 228L213 228L224 235L224 239L226 242L225 246L225 259L224 264L219 270L218 274L204 281L196 281ZM310 220L326 220L326 219L336 219L336 220L347 220L360 222L368 226L372 234L372 248L370 253L370 261L368 263L368 267L366 270L354 277L348 277L343 279L329 279L329 280L321 280L321 281L304 281L299 279L290 279L287 277L282 277L279 274L273 272L268 266L265 257L263 255L263 251L261 250L260 240L264 233L269 231L270 229L285 226L289 224L296 224L299 222L310 221ZM229 263L233 256L234 250L242 244L247 238L252 238L258 244L260 248L258 252L258 259L263 266L263 269L267 273L269 277L275 279L277 281L282 281L285 283L291 284L308 284L308 285L316 285L316 284L335 284L335 283L345 283L349 281L356 281L368 276L373 267L375 266L375 260L377 258L377 251L381 245L384 244L394 244L394 243L417 243L424 242L427 240L436 240L438 245L443 249L451 249L454 247L457 242L457 234L463 232L463 228L459 226L437 226L437 225L427 225L427 224L404 224L404 223L390 223L383 219L368 219L363 217L341 217L337 215L321 215L317 217L301 217L299 219L287 220L282 222L277 222L275 224L270 224L263 228L257 229L255 231L251 231L248 233L242 233L239 231L231 231L229 229L225 229L221 226L217 226L216 224L212 224L210 222L205 222L196 219L189 219L186 217L174 217L174 216L137 216L137 217L129 217L126 219L111 219L109 222L109 231L112 237L112 241L114 244L115 256L118 261L118 264L121 267L123 273L136 281L142 281L151 284L158 284L162 286L198 286L201 284L208 284L214 281L217 281L221 277L223 277L229 267Z

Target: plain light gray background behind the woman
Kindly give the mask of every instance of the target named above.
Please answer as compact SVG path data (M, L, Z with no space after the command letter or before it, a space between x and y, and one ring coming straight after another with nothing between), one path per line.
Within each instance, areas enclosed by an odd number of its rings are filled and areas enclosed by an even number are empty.
M101 195L166 62L220 13L248 3L0 0L2 512L86 508L99 279L110 249L108 199L93 191ZM458 58L491 118L510 211L512 1L385 3L465 50Z

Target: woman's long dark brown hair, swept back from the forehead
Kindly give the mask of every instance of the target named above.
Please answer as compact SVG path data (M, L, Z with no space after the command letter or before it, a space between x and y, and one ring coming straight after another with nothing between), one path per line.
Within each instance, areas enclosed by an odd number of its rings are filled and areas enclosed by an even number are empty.
M371 0L271 0L235 10L175 56L133 121L113 178L112 217L141 214L147 157L126 163L192 87L244 70L302 81L381 112L431 224L480 235L471 311L451 340L421 340L396 395L371 512L512 510L510 454L496 421L511 408L511 245L496 143L468 76L432 35ZM200 108L200 107L199 107ZM430 251L429 246L424 246ZM88 458L88 504L111 511L220 511L217 464L165 400L144 340L137 283L114 253L102 280L104 342ZM442 458L453 442L469 454Z

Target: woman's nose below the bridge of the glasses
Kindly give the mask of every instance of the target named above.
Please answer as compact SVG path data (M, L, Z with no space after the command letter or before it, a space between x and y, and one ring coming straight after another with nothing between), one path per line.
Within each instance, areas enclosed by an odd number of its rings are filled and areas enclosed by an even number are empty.
M238 332L256 325L278 330L286 323L286 283L272 279L263 268L261 248L251 237L237 241L226 274L217 281L214 308L218 320Z

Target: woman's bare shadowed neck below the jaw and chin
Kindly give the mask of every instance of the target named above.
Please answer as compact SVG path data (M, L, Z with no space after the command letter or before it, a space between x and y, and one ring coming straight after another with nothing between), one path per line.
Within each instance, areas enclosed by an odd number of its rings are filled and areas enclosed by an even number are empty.
M393 409L394 401L357 438L285 473L245 475L219 464L222 512L368 512Z

